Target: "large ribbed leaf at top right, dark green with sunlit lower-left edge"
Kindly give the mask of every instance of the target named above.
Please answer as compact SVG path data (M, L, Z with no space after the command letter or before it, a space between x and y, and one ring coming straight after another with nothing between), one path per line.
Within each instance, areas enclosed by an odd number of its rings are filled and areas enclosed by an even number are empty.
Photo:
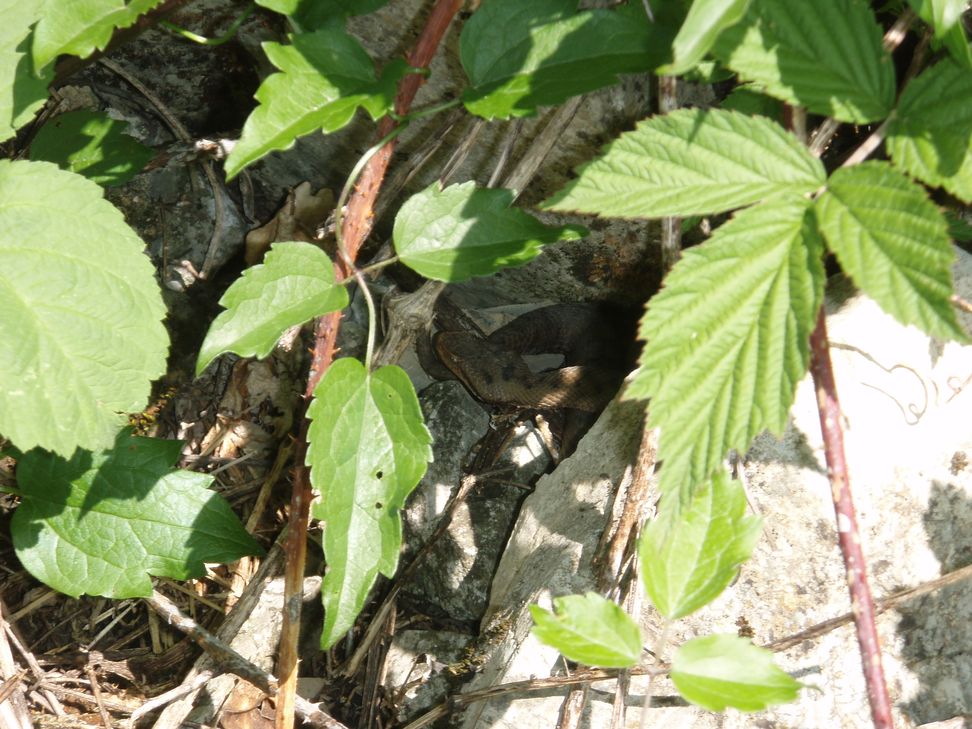
M715 55L771 96L840 121L883 119L894 67L863 0L752 0Z

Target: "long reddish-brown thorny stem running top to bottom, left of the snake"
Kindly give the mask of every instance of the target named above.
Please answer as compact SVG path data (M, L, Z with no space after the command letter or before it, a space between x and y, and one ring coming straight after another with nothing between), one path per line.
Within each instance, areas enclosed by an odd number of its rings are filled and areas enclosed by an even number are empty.
M426 21L415 48L408 55L409 65L426 68L432 61L436 49L442 42L453 17L462 7L462 0L437 0ZM419 87L425 77L410 74L398 85L395 96L395 112L404 116L411 108ZM391 117L382 119L378 126L378 139L387 136L397 122ZM361 172L354 192L348 201L347 212L342 225L342 240L348 260L353 263L358 251L374 225L374 205L381 189L385 172L395 149L395 141L387 142L372 156ZM343 260L335 264L338 279L351 274ZM309 403L314 389L324 372L334 359L335 342L341 326L341 313L335 312L321 317L315 323L314 351L312 354L304 401ZM304 562L307 555L307 523L310 502L313 498L310 475L305 465L307 456L307 428L305 418L301 418L300 436L295 452L294 486L290 502L290 517L287 523L287 567L284 577L284 614L280 634L280 652L277 659L279 689L277 691L276 729L292 729L294 724L294 696L297 688L297 638L300 629L300 600L304 579Z

